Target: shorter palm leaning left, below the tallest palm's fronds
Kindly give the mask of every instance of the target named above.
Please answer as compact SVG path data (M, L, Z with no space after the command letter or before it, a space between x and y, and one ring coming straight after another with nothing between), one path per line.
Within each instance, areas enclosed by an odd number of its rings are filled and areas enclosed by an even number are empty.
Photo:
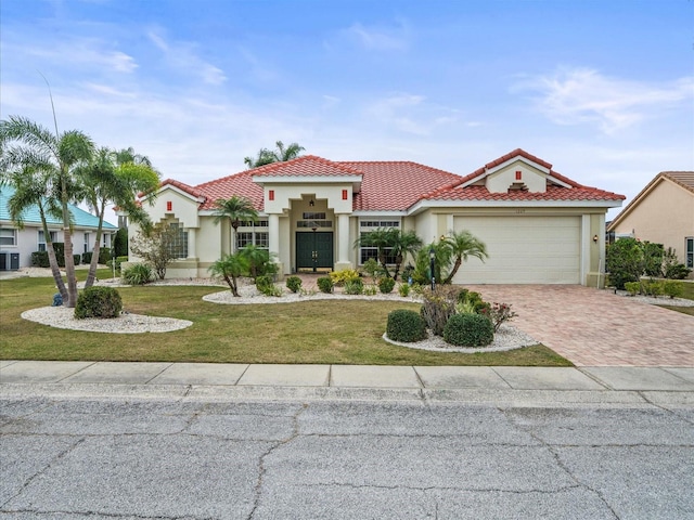
M10 172L7 182L14 188L14 193L8 200L8 210L10 211L10 219L14 221L17 227L24 227L24 212L28 208L36 207L39 210L39 218L41 219L41 229L43 230L43 236L46 238L46 252L48 253L51 274L53 275L55 286L57 287L63 301L67 301L67 289L65 288L63 276L61 275L57 258L55 258L55 249L53 248L51 232L48 229L47 214L59 219L61 218L61 210L56 204L56 198L47 196L48 190L51 186L48 176L42 172L31 171L28 168L24 168L18 171Z

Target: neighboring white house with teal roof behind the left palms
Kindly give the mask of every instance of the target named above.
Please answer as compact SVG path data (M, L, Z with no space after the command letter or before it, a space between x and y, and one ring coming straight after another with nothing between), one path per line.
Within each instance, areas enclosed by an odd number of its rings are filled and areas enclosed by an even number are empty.
M24 227L10 219L8 200L14 194L14 188L0 186L0 271L15 271L31 265L31 253L46 250L46 235L41 226L41 218L37 206L33 206L23 213ZM97 238L99 218L78 208L69 206L73 213L73 247L75 255L91 251ZM63 224L60 219L47 216L49 233L52 242L63 242ZM111 247L112 234L118 229L103 223L102 246Z

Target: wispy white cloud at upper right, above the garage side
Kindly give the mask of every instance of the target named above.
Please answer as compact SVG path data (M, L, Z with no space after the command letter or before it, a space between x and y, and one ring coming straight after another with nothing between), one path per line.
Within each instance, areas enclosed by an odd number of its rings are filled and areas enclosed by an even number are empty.
M694 99L694 77L650 83L612 78L589 68L565 69L526 79L513 91L535 91L538 108L560 125L596 123L617 132L665 108Z

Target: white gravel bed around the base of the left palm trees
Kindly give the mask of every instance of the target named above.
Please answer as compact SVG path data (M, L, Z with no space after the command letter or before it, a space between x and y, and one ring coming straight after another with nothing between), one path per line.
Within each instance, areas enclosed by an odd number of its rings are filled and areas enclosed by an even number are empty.
M142 314L123 313L118 317L75 318L75 309L67 307L41 307L22 313L24 320L49 325L55 328L69 328L89 333L140 334L170 333L190 327L193 322L172 317L145 316Z

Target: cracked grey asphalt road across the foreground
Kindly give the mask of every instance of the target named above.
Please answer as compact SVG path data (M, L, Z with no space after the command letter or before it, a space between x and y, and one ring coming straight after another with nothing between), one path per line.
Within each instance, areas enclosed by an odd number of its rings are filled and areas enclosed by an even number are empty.
M694 410L0 398L0 519L687 519Z

